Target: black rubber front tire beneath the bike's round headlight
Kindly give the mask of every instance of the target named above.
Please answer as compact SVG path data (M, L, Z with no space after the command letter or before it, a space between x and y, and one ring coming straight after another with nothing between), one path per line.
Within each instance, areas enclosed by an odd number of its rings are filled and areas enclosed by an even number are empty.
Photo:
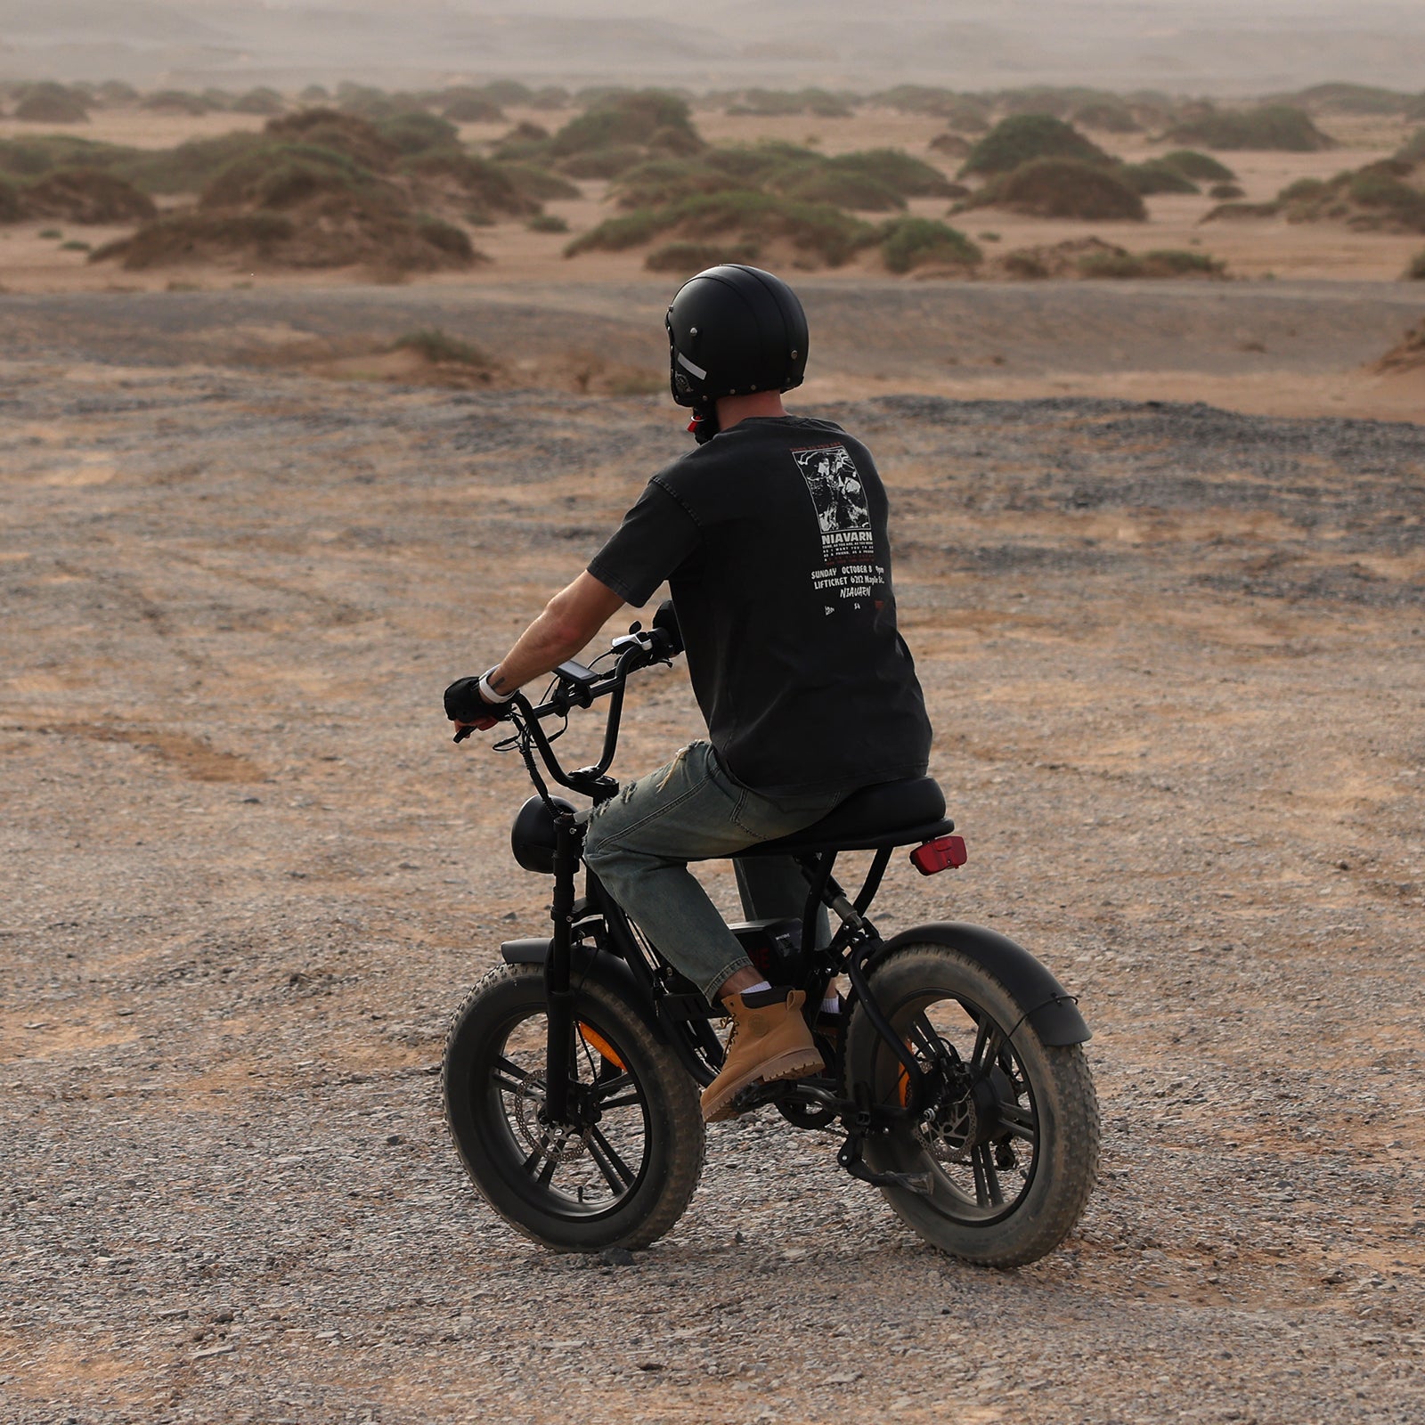
M490 1046L522 1017L544 1012L544 969L500 965L456 1010L442 1064L446 1126L470 1181L517 1233L556 1251L647 1247L683 1216L703 1173L705 1130L698 1090L673 1052L603 985L586 980L574 1017L604 1027L627 1057L648 1113L647 1164L628 1198L604 1217L581 1220L532 1203L512 1183L510 1143L496 1131L486 1072Z

